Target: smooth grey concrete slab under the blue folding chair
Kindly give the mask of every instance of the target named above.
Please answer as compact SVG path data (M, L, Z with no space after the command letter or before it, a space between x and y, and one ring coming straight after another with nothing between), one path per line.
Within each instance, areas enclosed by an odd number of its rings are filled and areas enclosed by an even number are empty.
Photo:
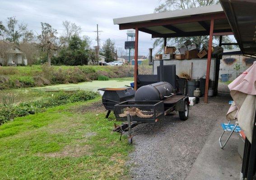
M225 106L221 114L226 114L227 111L228 106ZM237 152L238 135L233 134L225 148L221 149L219 147L219 136L223 132L221 122L227 122L225 116L220 116L216 122L186 180L239 180L242 158Z

